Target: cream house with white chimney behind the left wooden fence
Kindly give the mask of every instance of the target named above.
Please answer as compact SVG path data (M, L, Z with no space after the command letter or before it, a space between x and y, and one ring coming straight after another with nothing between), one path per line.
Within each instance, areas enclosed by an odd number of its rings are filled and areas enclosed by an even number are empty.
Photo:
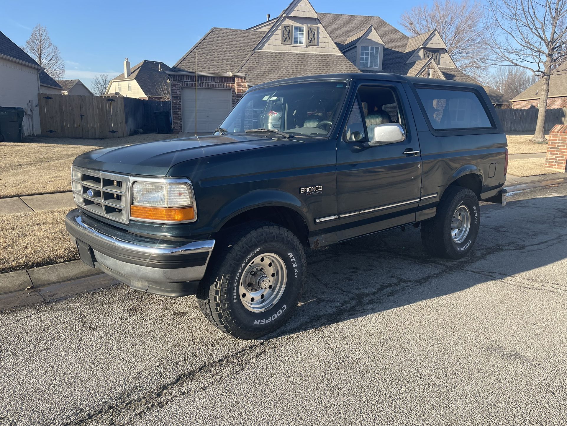
M159 61L142 61L130 69L130 61L126 58L124 73L110 81L105 95L169 101L169 70L169 66Z

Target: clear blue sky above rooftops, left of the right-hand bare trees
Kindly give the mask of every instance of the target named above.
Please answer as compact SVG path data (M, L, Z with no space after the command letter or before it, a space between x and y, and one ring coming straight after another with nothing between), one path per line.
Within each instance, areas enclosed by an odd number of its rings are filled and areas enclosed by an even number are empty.
M128 57L132 65L147 59L174 65L211 27L248 28L277 16L291 0L268 2L215 1L0 1L0 31L23 45L37 23L49 35L66 62L66 78L91 78L122 72ZM404 10L420 0L311 0L319 12L378 15L393 26ZM395 5L395 7L392 7ZM188 18L188 19L186 19Z

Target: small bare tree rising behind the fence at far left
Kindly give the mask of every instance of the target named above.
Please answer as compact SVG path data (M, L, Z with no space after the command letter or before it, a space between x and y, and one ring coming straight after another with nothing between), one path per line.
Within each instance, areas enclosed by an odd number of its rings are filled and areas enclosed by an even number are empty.
M33 27L32 35L22 49L54 80L59 80L65 75L65 61L61 57L59 48L51 42L47 28L43 25L37 24Z

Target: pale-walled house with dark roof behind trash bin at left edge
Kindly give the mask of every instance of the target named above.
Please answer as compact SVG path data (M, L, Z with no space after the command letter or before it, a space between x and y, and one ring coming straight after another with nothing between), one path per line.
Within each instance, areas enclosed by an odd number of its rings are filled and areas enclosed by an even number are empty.
M41 126L37 95L41 66L0 32L0 106L26 110L23 135L39 135Z

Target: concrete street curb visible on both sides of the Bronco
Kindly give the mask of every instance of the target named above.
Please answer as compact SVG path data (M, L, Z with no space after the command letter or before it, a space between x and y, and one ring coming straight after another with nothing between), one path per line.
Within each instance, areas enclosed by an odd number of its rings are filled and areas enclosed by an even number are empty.
M567 183L567 178L531 179L505 186L510 193ZM80 260L0 274L0 310L49 302L85 291L99 290L120 281L93 269Z

